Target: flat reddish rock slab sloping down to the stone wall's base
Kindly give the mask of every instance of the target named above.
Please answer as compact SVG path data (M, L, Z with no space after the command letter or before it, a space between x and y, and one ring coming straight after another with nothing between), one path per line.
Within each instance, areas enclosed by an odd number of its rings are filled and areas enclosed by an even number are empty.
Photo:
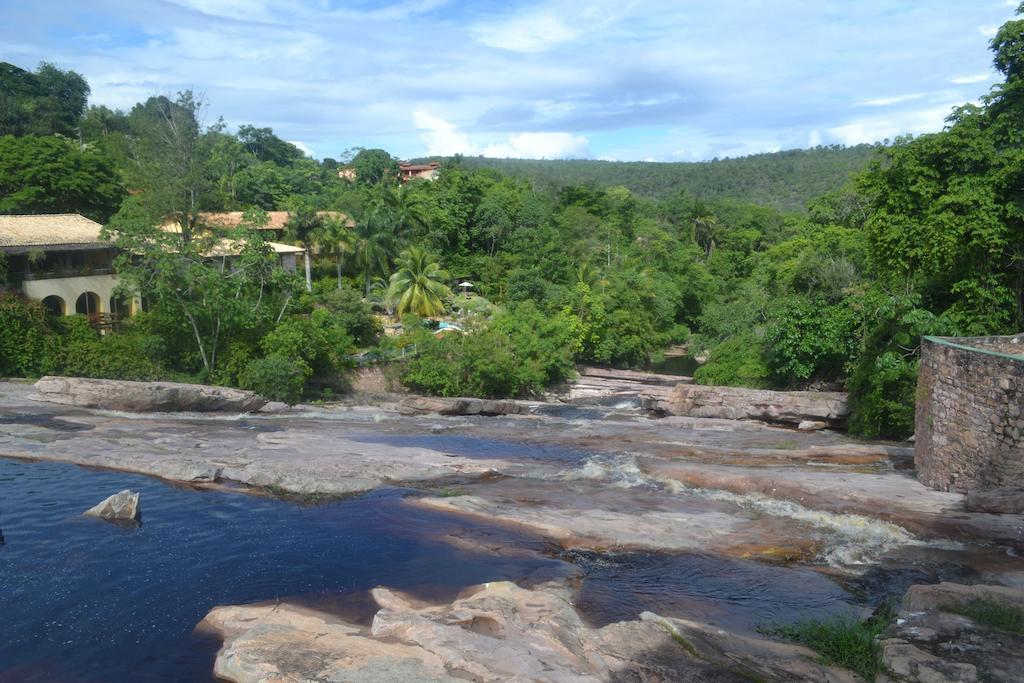
M968 512L961 494L933 490L897 472L867 474L692 464L643 458L655 477L700 488L760 494L829 512L878 517L911 531L1024 548L1024 515Z

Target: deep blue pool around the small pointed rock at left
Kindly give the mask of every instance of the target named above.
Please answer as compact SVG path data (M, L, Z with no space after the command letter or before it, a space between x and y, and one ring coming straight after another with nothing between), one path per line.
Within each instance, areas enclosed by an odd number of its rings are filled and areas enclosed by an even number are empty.
M141 494L141 527L82 516L127 487ZM382 585L452 599L571 568L457 550L434 539L487 529L400 496L303 507L0 459L0 681L209 680L217 644L191 632L215 605L324 592L341 602Z

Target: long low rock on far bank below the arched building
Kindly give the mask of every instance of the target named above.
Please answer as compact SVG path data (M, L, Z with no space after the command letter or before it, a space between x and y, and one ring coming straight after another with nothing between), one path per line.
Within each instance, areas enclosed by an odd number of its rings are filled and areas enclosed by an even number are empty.
M127 382L84 377L44 377L30 398L65 405L132 413L250 413L266 404L251 391L178 382Z

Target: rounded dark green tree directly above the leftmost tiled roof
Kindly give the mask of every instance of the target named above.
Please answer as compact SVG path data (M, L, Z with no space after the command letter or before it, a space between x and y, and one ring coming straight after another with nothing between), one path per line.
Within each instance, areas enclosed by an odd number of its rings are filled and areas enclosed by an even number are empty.
M0 213L81 213L103 222L124 196L99 151L55 136L0 137Z

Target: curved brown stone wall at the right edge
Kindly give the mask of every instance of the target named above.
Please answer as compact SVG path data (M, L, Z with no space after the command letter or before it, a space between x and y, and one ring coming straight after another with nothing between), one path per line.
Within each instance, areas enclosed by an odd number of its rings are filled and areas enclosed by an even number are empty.
M1024 335L926 337L914 422L923 483L1024 487Z

